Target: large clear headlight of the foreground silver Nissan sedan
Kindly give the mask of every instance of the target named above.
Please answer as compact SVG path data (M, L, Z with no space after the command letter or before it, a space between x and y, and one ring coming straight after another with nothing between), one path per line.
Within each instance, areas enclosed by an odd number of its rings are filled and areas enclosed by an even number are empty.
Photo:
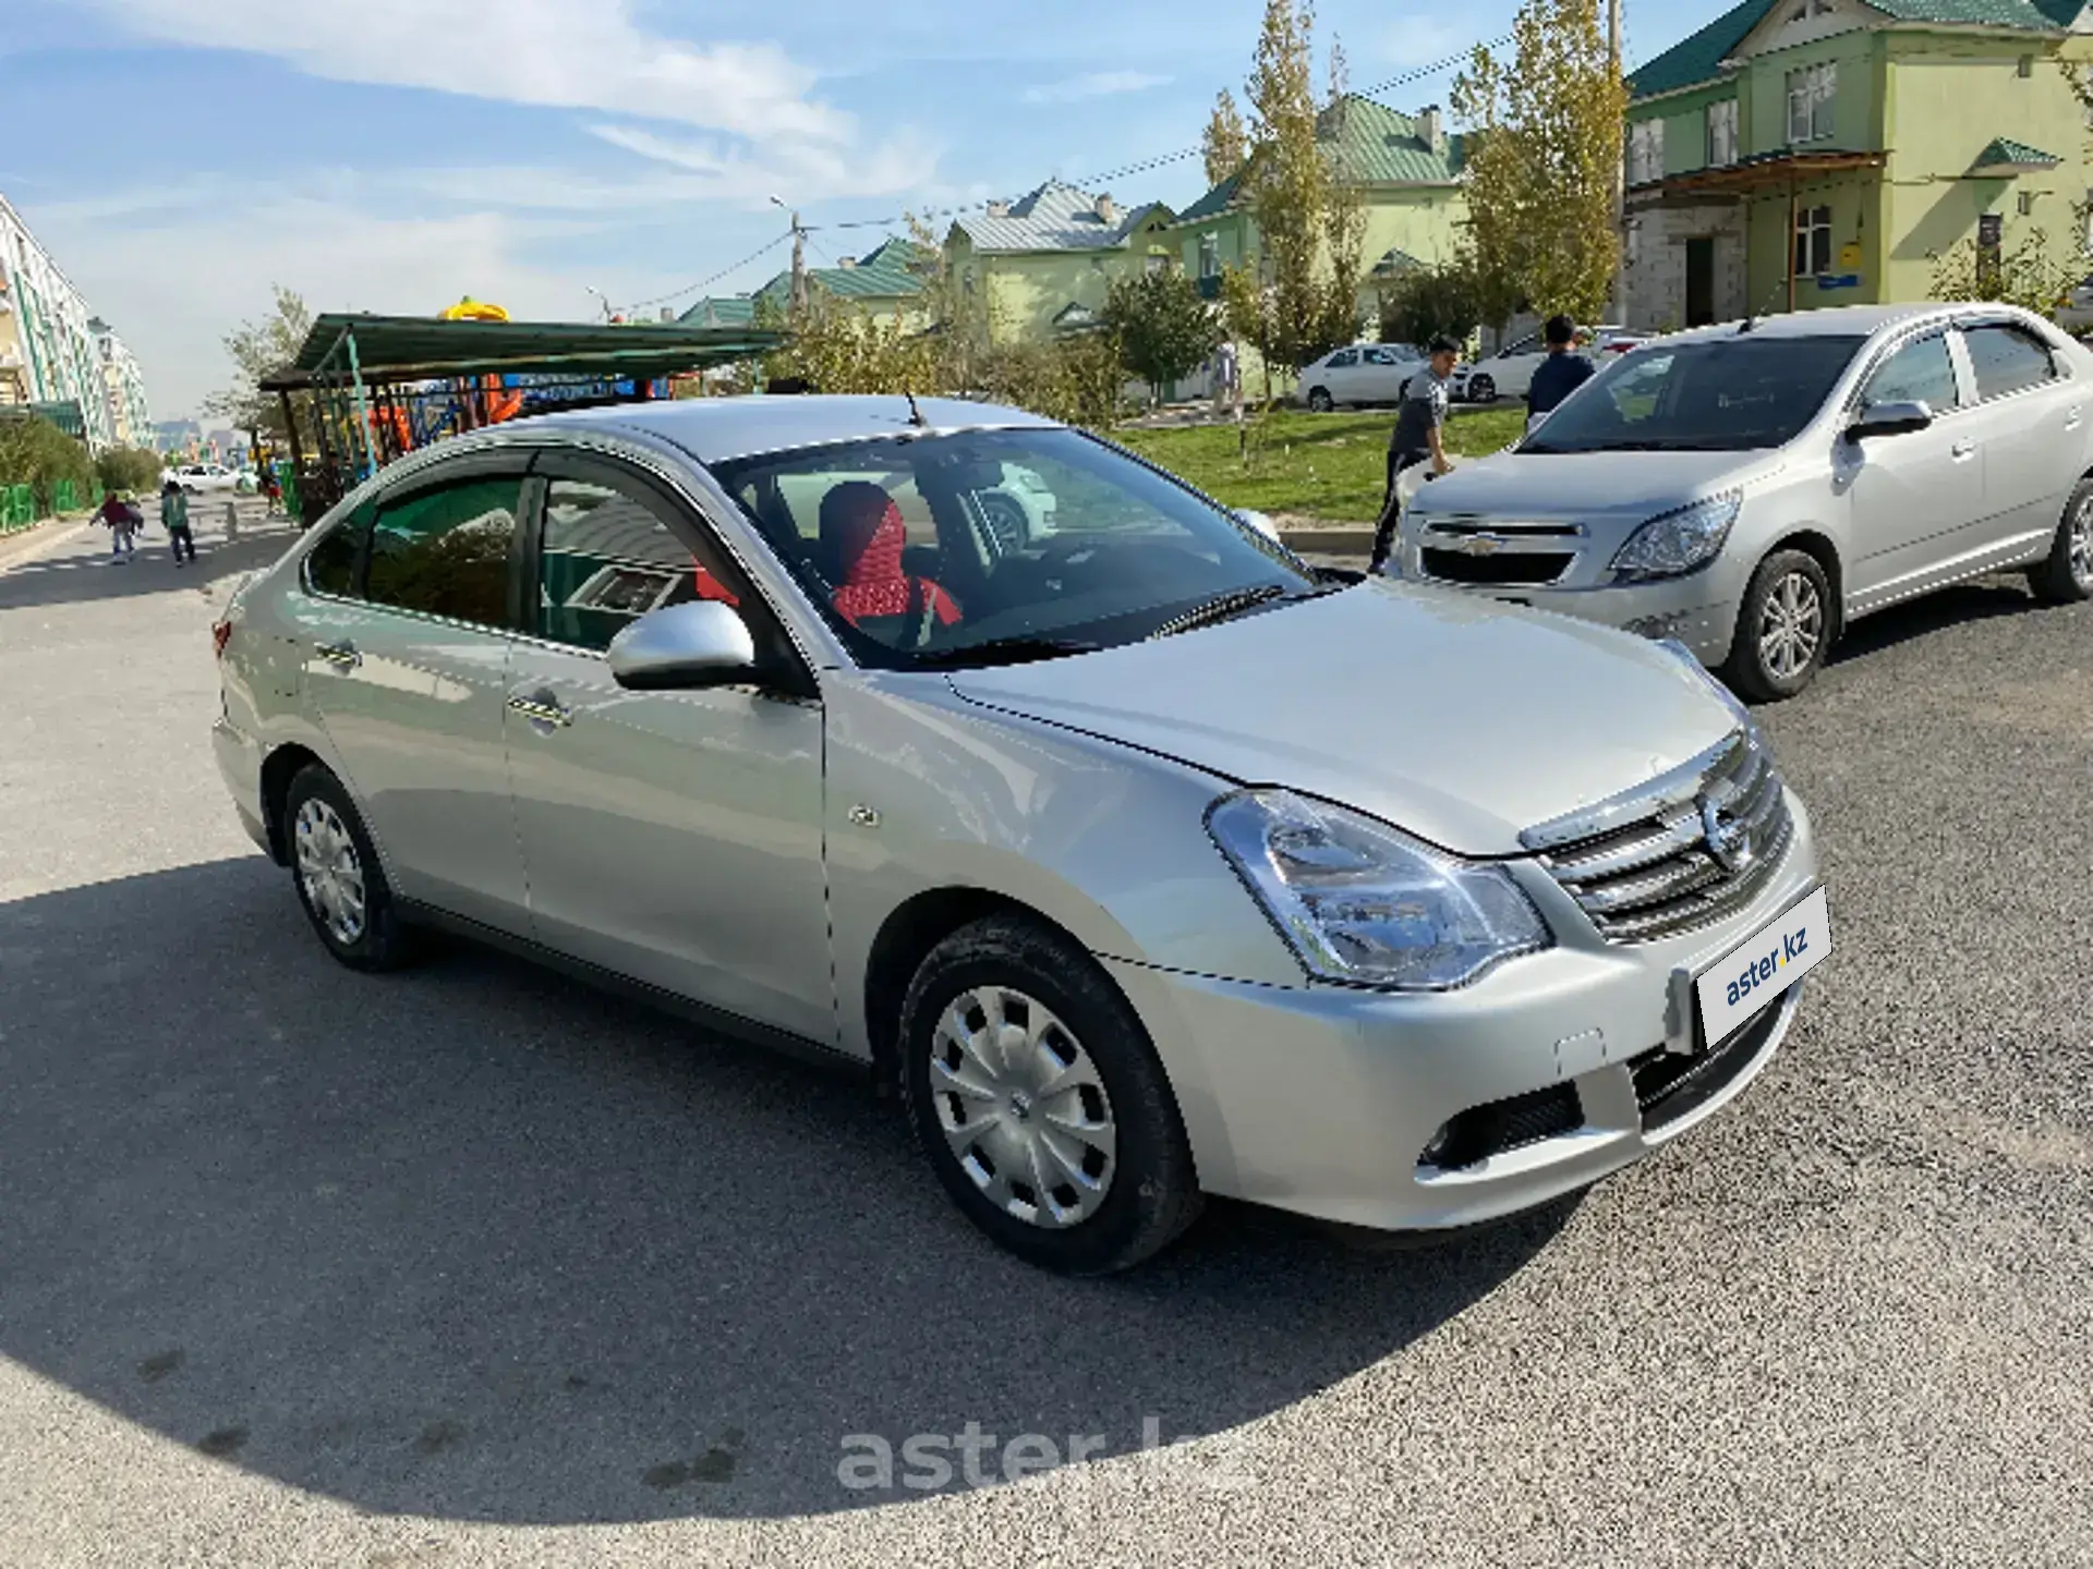
M1551 941L1503 866L1457 860L1358 812L1243 791L1216 801L1206 826L1319 979L1442 992Z

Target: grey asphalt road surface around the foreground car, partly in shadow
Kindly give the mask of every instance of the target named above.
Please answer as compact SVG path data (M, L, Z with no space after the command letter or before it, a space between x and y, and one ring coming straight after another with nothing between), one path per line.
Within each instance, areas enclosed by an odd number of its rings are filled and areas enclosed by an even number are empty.
M1216 1207L1063 1282L846 1079L329 962L207 747L285 538L0 575L0 1563L2093 1563L2093 609L1967 588L1766 713L1836 952L1729 1115L1453 1245ZM839 1479L969 1423L1095 1441Z

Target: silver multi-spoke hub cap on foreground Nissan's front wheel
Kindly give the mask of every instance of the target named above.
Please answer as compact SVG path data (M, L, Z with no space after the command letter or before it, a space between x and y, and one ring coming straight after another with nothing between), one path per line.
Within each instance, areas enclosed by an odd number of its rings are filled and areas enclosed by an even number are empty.
M982 1197L1049 1230L1097 1213L1118 1125L1097 1063L1051 1008L1000 985L961 992L929 1069L940 1132Z

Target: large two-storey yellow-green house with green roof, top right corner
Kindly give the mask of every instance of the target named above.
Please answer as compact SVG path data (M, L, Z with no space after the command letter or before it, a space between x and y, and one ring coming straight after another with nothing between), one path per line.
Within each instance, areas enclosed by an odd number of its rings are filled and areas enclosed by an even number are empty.
M2089 33L2083 0L1725 10L1628 79L1628 324L1926 299L1984 213L2074 262Z

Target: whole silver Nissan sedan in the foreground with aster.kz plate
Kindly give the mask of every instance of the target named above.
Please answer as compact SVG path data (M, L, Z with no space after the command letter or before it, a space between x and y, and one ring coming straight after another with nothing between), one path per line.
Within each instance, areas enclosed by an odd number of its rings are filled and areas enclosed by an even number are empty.
M1015 410L460 437L213 636L232 801L335 958L448 927L852 1061L1070 1272L1206 1192L1444 1230L1582 1188L1739 1094L1829 950L1685 649L1314 569Z

